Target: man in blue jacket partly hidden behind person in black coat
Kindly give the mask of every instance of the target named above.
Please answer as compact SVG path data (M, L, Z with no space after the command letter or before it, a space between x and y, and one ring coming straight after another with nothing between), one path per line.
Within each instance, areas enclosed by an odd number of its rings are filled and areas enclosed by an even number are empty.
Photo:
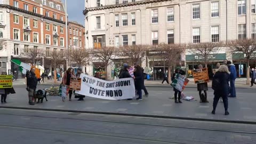
M235 98L236 97L236 88L235 88L235 81L236 81L236 67L231 63L231 61L227 61L227 65L230 71L230 95L229 97Z

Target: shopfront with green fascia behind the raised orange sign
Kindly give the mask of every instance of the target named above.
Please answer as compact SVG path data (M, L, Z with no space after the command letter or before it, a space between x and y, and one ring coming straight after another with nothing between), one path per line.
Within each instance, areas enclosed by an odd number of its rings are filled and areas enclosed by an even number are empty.
M223 64L223 60L226 59L226 53L210 54L207 61L207 69L209 77L213 77L213 69L217 68L217 63ZM188 78L193 78L193 70L198 69L198 65L204 64L204 57L197 54L186 55L186 74Z

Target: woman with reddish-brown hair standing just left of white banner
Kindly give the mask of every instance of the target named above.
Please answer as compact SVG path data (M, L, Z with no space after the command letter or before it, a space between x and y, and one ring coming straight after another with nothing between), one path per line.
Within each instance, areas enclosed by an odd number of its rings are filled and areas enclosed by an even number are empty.
M70 78L71 77L75 77L74 69L73 68L68 68L66 73L63 74L62 85L67 86L68 93L69 93L69 101L71 101L71 97L72 97L72 90L69 90Z

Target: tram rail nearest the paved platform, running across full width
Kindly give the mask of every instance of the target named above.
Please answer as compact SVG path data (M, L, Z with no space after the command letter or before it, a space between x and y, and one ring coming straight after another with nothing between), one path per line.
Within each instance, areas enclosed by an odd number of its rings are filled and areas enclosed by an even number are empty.
M252 131L237 131L237 130L223 130L223 129L212 129L205 127L193 127L193 126L177 126L177 125L167 125L167 124L154 124L154 123L138 123L138 122L126 122L126 121L113 121L95 118L71 118L71 117L60 117L60 116L42 116L42 115L26 115L26 114L10 114L10 113L0 113L0 115L12 115L12 116L26 116L26 117L41 117L41 118L54 118L54 119L69 119L78 121L93 121L93 122L105 122L105 123L119 123L119 124L132 124L132 125L146 125L146 126L157 126L157 127L172 127L178 129L190 129L190 130L203 130L203 131L218 131L218 132L231 132L240 134L256 134ZM1 125L0 126L8 126Z

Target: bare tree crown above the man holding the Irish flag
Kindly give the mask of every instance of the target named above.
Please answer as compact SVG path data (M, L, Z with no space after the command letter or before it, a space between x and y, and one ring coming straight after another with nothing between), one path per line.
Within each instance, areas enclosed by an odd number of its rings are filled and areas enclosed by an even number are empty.
M29 49L27 52L23 52L22 54L28 57L34 66L45 56L43 50L39 50L37 48Z

